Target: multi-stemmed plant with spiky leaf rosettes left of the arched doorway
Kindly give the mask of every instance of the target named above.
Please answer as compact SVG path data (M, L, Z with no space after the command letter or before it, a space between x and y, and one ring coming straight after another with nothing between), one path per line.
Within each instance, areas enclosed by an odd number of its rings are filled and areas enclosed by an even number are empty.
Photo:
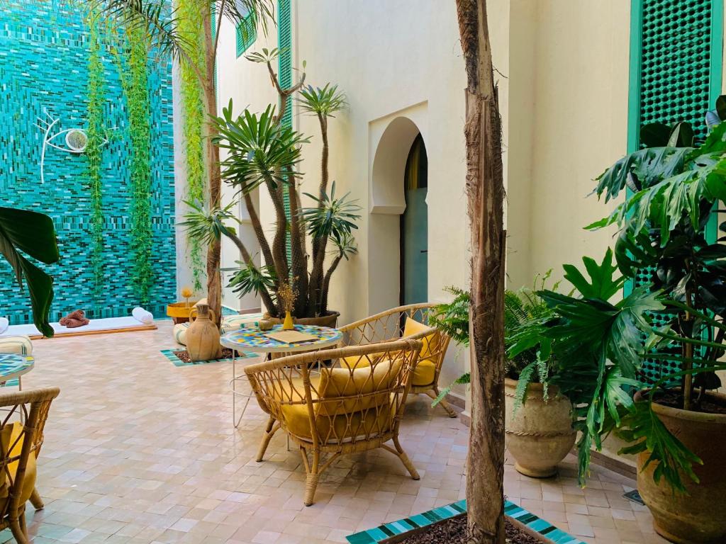
M304 71L297 83L283 87L273 67L279 55L279 49L262 49L247 55L250 61L266 66L278 94L279 107L270 104L264 112L245 110L234 115L230 100L222 115L213 120L216 136L212 141L227 150L227 156L221 161L221 176L237 189L237 197L245 203L262 263L256 263L256 255L229 226L235 221L229 210L237 202L226 208L208 209L192 203L192 212L183 224L192 236L203 236L208 241L219 241L221 236L232 240L242 255L240 271L230 281L235 292L258 294L269 314L279 317L284 313L279 289L288 279L295 278L297 297L293 315L315 318L328 315L333 273L341 260L356 253L352 231L357 228L355 221L359 219L360 207L348 199L348 194L336 196L335 182L329 182L328 174L327 123L346 106L346 99L338 86L330 83L322 88L306 86ZM322 136L318 190L316 194L304 193L313 204L309 207L302 205L303 173L298 168L301 147L309 138L282 123L291 99L296 100L303 112L318 118ZM258 189L266 191L274 208L271 237L253 201L253 191Z

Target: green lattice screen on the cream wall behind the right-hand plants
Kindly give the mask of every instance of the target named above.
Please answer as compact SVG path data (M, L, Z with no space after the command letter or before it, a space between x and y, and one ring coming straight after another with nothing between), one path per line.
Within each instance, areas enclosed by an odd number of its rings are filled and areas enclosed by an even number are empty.
M723 0L633 0L631 17L629 152L640 146L640 126L655 121L689 121L702 139L721 88ZM635 285L652 274L643 269ZM669 321L653 317L656 325ZM646 360L644 370L654 381L677 363Z

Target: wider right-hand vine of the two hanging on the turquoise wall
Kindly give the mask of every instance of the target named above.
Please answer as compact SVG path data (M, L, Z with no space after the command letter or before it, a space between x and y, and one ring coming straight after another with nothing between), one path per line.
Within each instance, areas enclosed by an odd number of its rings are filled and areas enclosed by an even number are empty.
M151 252L151 104L149 99L149 40L146 29L136 26L127 33L129 65L122 78L129 111L131 139L131 252L134 255L131 284L142 305L149 302L153 284Z

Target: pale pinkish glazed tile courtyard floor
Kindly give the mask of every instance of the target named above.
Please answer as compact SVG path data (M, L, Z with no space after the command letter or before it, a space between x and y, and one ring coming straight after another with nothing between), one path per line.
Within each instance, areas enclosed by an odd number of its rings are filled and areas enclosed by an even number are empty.
M232 426L229 366L175 368L171 321L158 330L34 342L23 388L57 385L38 458L46 508L28 508L33 544L330 544L464 498L468 429L411 398L401 444L421 474L377 450L343 456L303 506L301 457L282 433L254 461L267 414L250 402ZM254 359L249 359L254 361ZM587 544L666 544L647 509L623 497L635 482L576 460L531 479L505 465L505 493ZM0 543L12 542L0 532Z

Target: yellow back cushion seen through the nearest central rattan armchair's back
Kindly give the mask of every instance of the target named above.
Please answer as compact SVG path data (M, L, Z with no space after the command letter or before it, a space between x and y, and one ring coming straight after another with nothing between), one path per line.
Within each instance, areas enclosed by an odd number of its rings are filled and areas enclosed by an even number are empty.
M364 359L363 359L364 360ZM350 368L322 368L318 388L320 416L354 413L391 402L402 358L378 360L373 366L358 363ZM377 391L382 391L376 394ZM345 398L353 397L353 398Z

